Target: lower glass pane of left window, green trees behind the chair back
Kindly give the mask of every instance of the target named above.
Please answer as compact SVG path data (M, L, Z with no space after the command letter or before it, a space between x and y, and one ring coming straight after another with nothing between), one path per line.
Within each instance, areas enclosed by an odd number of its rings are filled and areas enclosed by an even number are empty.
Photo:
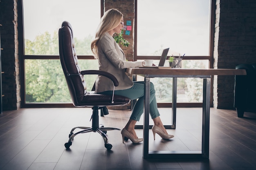
M79 60L81 70L97 68L98 60ZM25 60L26 103L71 103L60 60ZM97 75L85 75L91 91Z

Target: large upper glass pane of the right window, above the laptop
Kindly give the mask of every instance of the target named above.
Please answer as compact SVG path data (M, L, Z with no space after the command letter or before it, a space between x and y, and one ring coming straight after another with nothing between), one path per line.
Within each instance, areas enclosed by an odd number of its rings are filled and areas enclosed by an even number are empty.
M211 0L137 0L137 55L208 56Z

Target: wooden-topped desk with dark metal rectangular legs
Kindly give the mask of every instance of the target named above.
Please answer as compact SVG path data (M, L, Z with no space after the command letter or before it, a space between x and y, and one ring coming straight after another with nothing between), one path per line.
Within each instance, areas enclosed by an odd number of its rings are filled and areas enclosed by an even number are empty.
M186 68L127 68L126 73L130 75L144 76L144 125L143 125L143 157L144 158L209 158L209 123L210 123L210 91L212 75L246 75L242 69L186 69ZM203 104L202 104L202 150L196 151L149 151L149 91L150 78L152 77L173 77L173 121L176 121L176 94L177 77L203 78ZM175 108L175 109L174 109Z

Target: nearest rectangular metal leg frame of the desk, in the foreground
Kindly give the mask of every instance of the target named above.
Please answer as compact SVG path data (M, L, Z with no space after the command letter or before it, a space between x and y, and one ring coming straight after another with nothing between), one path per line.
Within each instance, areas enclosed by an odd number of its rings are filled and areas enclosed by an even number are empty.
M194 151L149 151L149 91L150 77L145 76L145 110L144 110L144 127L143 127L143 158L209 158L209 123L210 123L210 88L211 79L203 79L203 109L202 109L202 150ZM173 80L175 81L175 79ZM176 79L177 81L177 79ZM177 87L176 87L177 88ZM175 110L176 111L176 110ZM176 114L174 114L176 115ZM174 118L174 117L173 117ZM174 118L176 119L176 117Z

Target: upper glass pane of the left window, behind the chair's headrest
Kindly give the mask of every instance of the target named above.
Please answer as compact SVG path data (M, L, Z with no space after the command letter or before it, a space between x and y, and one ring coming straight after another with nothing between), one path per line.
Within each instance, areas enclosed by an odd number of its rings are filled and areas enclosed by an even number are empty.
M92 55L90 42L100 18L100 0L23 0L25 55L58 55L63 21L72 25L77 55Z

